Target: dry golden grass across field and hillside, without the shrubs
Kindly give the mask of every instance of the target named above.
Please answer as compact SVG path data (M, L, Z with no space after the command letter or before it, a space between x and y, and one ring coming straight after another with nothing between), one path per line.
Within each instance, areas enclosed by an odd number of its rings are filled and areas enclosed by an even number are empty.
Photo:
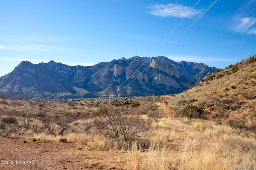
M154 114L161 112L159 115L162 115L162 118L154 117L148 136L134 137L132 141L124 141L122 138L108 139L97 133L94 127L86 131L74 124L84 121L91 123L90 114L96 112L96 105L104 104L105 101L86 100L68 104L0 99L0 111L4 113L15 110L13 114L17 117L21 117L24 111L35 115L44 111L48 115L59 117L76 115L62 135L50 135L42 125L40 117L37 117L33 119L28 129L22 128L19 119L16 127L7 134L7 137L30 141L35 138L39 143L60 143L60 138L66 138L79 156L86 154L86 150L122 153L128 159L124 156L116 160L125 163L124 168L127 170L255 170L255 129L246 129L237 133L227 123L228 120L238 117L246 121L246 125L254 125L256 99L250 99L249 96L255 94L252 82L256 81L254 77L256 63L248 64L248 60L235 65L239 68L237 72L227 74L232 72L232 68L222 70L216 73L216 76L224 74L221 78L205 81L201 86L176 94L168 101L168 106L177 112L186 102L203 106L206 111L204 118L211 121L203 119L188 121L184 117L171 117L173 113L170 114L168 108L154 108L154 111L150 111ZM236 88L232 89L231 86ZM143 108L136 108L146 113L145 110L151 105L145 103ZM145 114L140 116L144 119L148 118ZM6 132L6 129L0 128L0 133ZM97 163L100 164L102 161Z

